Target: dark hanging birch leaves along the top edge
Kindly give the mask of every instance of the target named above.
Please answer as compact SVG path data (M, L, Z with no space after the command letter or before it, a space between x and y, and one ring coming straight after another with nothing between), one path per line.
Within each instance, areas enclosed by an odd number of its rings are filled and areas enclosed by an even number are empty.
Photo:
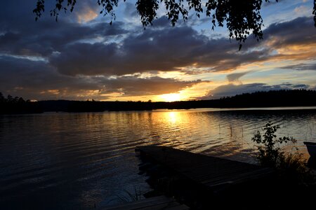
M51 0L54 1L54 0ZM126 1L126 0L124 0ZM277 1L277 0L276 0ZM70 11L74 10L77 0L55 0L55 8L51 10L51 16L57 20L60 10ZM265 0L269 2L269 0ZM316 0L314 0L315 27L316 27ZM118 6L119 0L97 0L99 6L102 6L100 11L103 15L110 15L112 20L116 18L114 8ZM195 15L200 18L200 15L205 12L206 16L211 19L212 29L216 27L223 27L224 24L229 30L230 38L235 38L239 42L239 49L241 43L253 34L254 38L259 41L263 38L261 27L263 26L263 19L261 18L261 6L263 0L208 0L205 6L202 6L202 0L137 0L136 9L140 15L140 20L143 26L152 25L154 19L157 18L157 10L161 4L166 8L166 16L174 26L179 17L187 20L189 11L194 10ZM36 20L41 17L45 10L45 0L37 0L37 6L33 13L36 15ZM112 20L110 24L112 24Z

